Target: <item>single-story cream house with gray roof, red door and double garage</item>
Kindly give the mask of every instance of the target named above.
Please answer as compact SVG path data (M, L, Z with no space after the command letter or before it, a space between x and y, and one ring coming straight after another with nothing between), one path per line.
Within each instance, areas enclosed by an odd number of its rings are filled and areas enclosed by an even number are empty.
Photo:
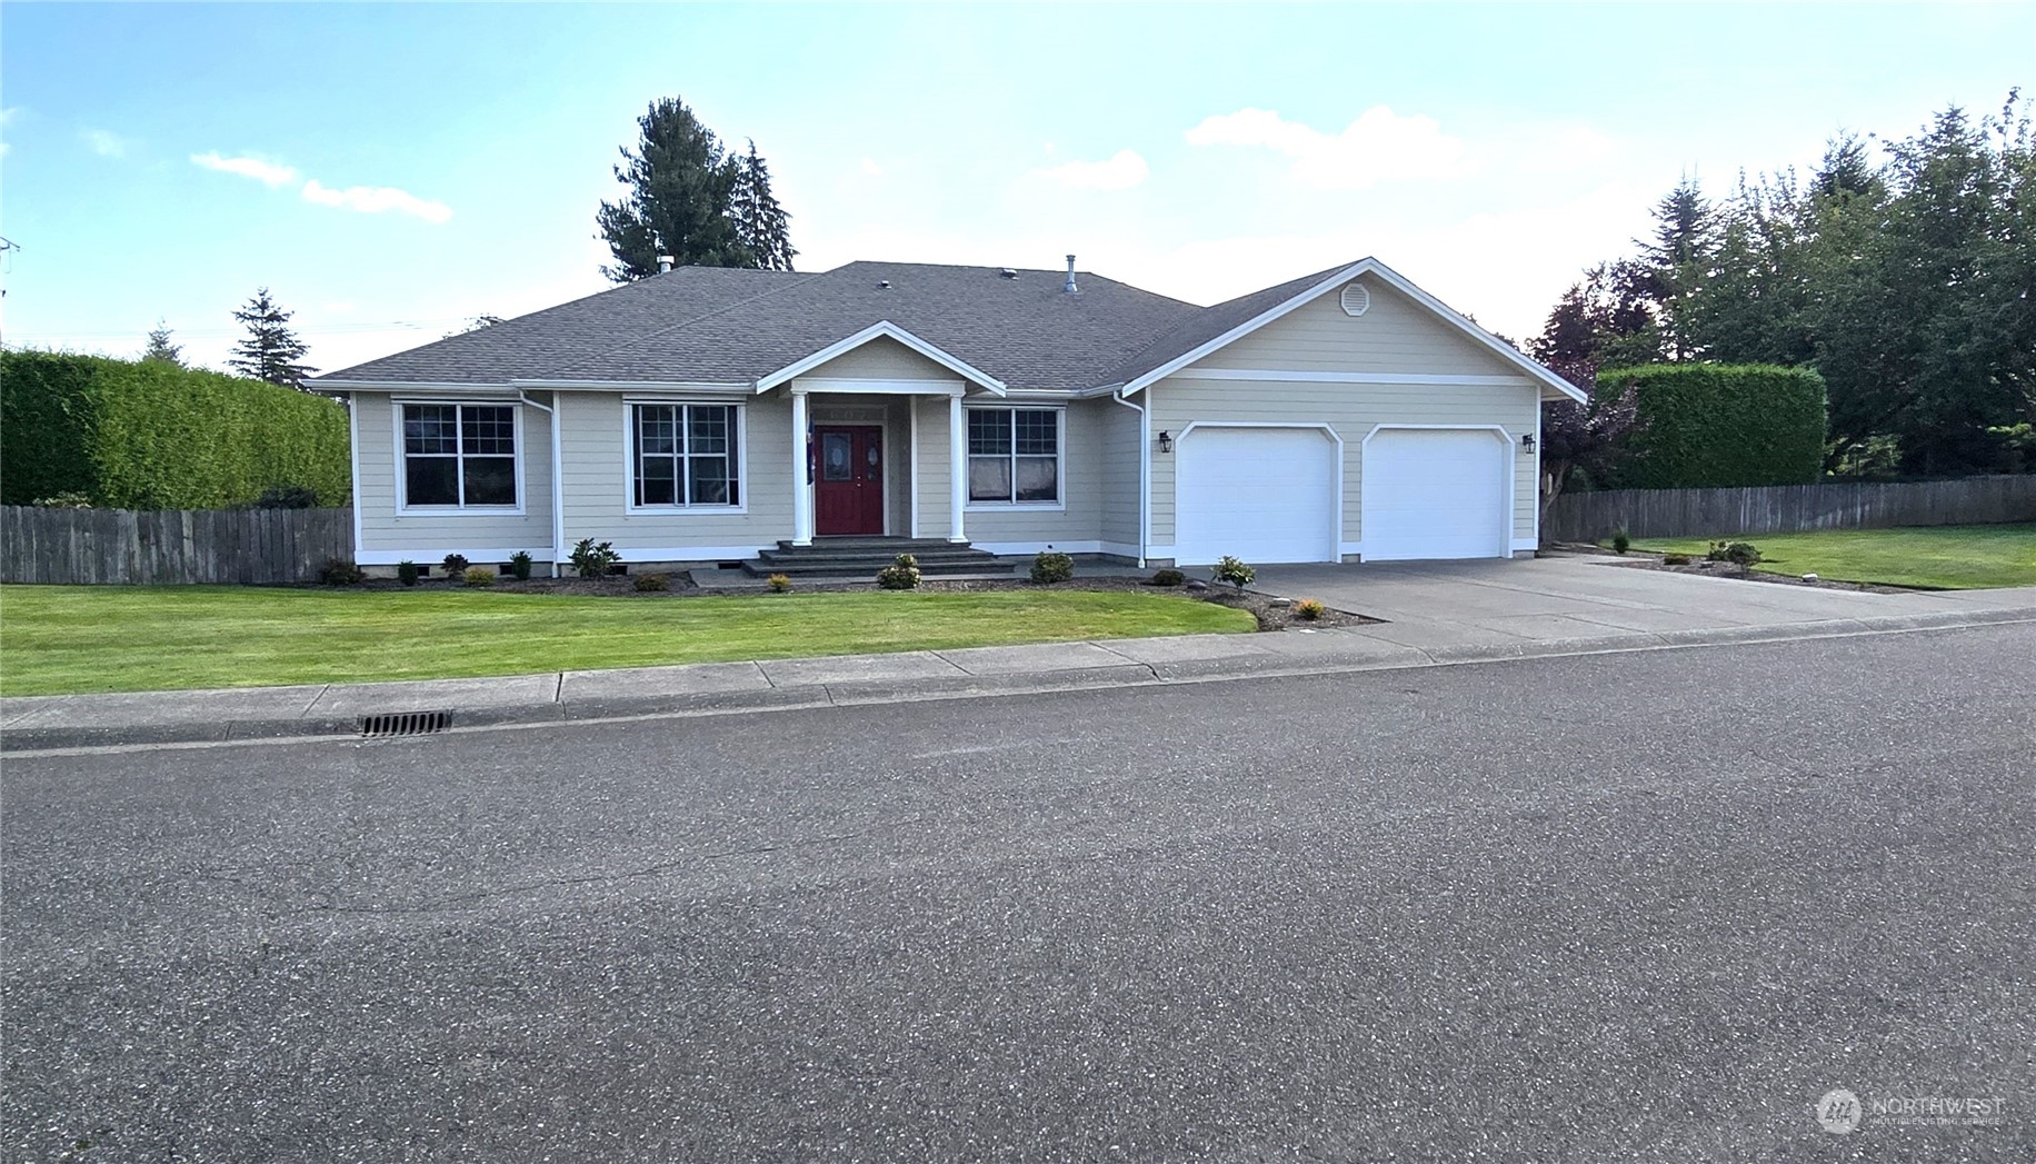
M1374 258L1213 307L1073 256L682 267L312 387L352 401L356 558L383 568L582 537L631 564L835 537L1505 558L1537 541L1541 401L1582 399Z

